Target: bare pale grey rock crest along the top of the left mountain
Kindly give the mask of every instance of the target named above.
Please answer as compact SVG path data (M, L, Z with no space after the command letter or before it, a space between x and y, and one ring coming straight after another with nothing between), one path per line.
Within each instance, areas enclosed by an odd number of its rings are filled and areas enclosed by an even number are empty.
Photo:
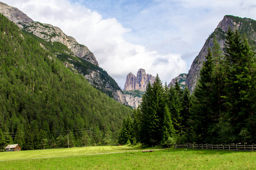
M85 59L85 61L98 66L94 54L85 45L79 44L73 37L65 35L60 28L53 27L50 24L34 22L18 8L8 6L2 2L0 2L0 12L24 31L32 32L46 41L60 42L71 50L71 55Z

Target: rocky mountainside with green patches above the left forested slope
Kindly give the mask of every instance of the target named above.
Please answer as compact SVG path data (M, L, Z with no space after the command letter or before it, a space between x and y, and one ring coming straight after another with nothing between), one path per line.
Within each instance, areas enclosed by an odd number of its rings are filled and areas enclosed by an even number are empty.
M53 50L66 66L83 74L93 87L127 105L125 95L118 84L99 67L96 57L85 45L81 45L73 37L65 35L58 27L34 22L18 8L0 2L0 12L24 32L27 32L27 35L42 42L41 45L44 48Z

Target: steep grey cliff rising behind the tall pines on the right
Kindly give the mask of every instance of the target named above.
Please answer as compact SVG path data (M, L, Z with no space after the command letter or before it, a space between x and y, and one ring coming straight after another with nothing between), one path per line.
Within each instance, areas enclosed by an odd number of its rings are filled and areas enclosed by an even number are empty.
M201 49L199 55L194 59L190 70L188 71L186 85L189 90L192 92L195 89L197 80L199 79L200 69L203 66L205 61L205 56L207 55L207 49L213 46L214 35L217 38L218 43L221 46L221 49L224 49L225 43L225 33L228 29L232 28L233 30L237 29L242 35L245 34L247 39L249 39L250 45L255 46L256 42L256 22L253 19L248 18L239 18L236 16L226 15L224 19L218 24L214 32L208 37L207 41L203 48Z

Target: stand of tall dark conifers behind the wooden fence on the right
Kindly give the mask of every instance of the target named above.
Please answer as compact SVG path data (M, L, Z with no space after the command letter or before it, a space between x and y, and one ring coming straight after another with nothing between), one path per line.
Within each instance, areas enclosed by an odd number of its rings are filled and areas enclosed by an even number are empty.
M208 49L195 91L148 83L133 121L123 121L119 143L255 143L255 52L230 28L222 52L216 37Z

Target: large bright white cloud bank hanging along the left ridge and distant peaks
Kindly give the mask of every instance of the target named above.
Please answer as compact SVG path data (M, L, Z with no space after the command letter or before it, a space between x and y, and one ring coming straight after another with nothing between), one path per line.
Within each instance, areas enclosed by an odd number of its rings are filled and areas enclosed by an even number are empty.
M3 1L5 2L5 1ZM100 66L117 80L125 84L126 75L137 74L140 68L169 83L172 78L186 70L186 62L180 54L161 55L142 45L127 42L123 34L131 29L124 28L115 18L102 19L81 3L67 0L8 0L5 2L22 10L31 19L55 25L69 36L75 37L96 56Z

